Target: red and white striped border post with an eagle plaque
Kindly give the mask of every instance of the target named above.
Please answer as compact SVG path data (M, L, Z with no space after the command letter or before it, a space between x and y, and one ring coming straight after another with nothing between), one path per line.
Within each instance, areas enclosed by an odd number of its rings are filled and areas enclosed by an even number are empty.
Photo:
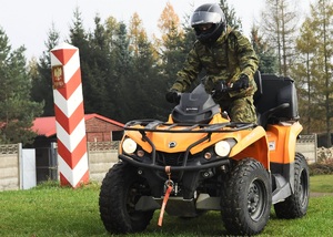
M79 49L62 43L51 50L60 184L89 181Z

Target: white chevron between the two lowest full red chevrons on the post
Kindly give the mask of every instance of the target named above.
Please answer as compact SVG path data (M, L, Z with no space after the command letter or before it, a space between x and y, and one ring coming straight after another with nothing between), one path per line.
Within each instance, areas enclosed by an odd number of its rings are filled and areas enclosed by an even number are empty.
M85 124L84 117L78 124L78 126L73 130L71 134L68 134L65 130L56 122L57 127L57 137L62 142L62 144L68 148L69 152L73 152L82 138L85 136Z

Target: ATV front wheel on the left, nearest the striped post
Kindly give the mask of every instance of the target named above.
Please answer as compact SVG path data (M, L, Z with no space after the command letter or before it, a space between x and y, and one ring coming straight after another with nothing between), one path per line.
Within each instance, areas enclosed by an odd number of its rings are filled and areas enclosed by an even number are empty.
M149 186L137 175L135 168L125 163L110 168L102 182L99 199L105 229L118 234L144 230L154 212L138 212L135 204L147 195L150 195Z

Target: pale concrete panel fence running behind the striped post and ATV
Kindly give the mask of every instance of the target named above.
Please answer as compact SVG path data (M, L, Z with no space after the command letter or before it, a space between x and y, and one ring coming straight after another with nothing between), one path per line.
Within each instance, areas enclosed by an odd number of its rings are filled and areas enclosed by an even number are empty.
M118 142L92 142L88 143L88 158L90 181L101 182L109 168L118 162ZM52 150L52 151L51 151ZM57 153L57 145L47 154ZM296 152L302 153L307 163L317 161L316 136L302 135L296 143ZM52 174L58 174L57 155L48 155L46 159L54 158L49 163ZM0 192L23 188L22 147L20 144L0 145ZM38 163L38 161L36 161ZM37 172L39 168L37 167ZM37 174L39 176L39 174ZM54 177L53 177L54 176ZM58 175L49 178L57 179ZM56 177L57 176L57 177ZM40 182L40 181L39 181Z

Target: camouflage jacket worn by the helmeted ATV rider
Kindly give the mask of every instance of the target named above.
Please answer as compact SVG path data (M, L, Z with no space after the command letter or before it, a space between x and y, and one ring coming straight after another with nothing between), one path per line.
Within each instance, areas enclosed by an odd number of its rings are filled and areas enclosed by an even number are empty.
M205 89L211 92L214 83L220 80L235 82L241 74L250 79L250 87L241 92L230 93L230 96L248 96L256 91L253 80L258 70L258 58L250 41L239 31L228 28L212 45L195 41L189 52L183 69L178 72L178 78L170 90L186 91L196 81L201 70L205 70Z

